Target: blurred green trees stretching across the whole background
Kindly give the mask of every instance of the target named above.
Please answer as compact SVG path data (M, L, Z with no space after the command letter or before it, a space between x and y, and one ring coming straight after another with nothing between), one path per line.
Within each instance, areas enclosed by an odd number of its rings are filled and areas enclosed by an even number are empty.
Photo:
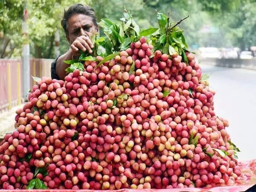
M25 0L0 0L0 58L20 57ZM92 6L101 18L119 20L124 6L140 28L157 26L155 10L170 15L173 21L186 15L181 23L187 43L197 47L240 47L256 45L256 0L27 0L29 44L34 58L55 58L55 31L60 31L60 51L69 45L61 29L64 9L74 3ZM207 31L202 30L207 29Z

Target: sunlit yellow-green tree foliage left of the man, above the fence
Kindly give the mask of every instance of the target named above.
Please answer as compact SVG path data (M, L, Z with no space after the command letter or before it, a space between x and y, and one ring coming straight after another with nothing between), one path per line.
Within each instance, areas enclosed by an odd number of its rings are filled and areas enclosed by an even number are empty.
M25 0L2 0L0 2L0 58L20 56L21 23ZM54 57L54 34L61 29L63 10L78 3L77 0L27 0L29 10L29 39L31 54L36 58ZM89 4L90 0L79 3ZM61 30L62 31L62 30ZM62 34L63 36L63 34ZM65 44L68 47L68 43Z

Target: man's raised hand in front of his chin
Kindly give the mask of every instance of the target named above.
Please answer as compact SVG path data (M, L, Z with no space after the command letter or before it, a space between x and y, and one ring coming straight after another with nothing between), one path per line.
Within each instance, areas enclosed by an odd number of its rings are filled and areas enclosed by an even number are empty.
M72 52L75 54L79 53L79 49L82 50L83 52L87 51L88 53L91 54L93 52L92 51L93 47L94 46L90 38L84 35L76 38L73 44L70 45Z

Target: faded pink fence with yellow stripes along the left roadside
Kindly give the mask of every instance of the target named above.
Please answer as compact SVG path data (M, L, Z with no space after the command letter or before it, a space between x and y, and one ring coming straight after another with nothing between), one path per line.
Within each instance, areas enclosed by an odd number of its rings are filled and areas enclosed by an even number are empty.
M52 59L30 59L30 75L51 76ZM30 87L35 85L32 77ZM23 102L22 59L0 59L0 111L6 111Z

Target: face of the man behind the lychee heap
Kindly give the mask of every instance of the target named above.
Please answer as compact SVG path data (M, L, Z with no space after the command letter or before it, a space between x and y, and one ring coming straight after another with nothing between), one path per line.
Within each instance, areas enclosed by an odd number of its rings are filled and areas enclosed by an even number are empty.
M72 44L81 35L91 37L98 32L98 27L90 16L84 14L72 15L67 21L67 41Z

